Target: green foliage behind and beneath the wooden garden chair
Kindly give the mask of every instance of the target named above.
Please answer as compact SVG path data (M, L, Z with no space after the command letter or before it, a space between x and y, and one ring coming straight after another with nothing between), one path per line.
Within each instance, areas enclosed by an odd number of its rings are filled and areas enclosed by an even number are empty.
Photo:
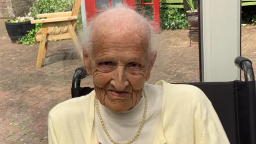
M72 11L73 3L74 0L39 0L33 4L30 11L32 12L32 17L36 18L37 14ZM37 23L36 28L30 30L28 34L20 38L17 43L33 44L35 42L35 34L40 28L42 28L42 23ZM82 28L81 11L78 15L76 28Z

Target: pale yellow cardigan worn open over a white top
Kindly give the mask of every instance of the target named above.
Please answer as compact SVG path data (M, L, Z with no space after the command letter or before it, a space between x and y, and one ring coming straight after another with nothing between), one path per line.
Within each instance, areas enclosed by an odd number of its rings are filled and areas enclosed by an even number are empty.
M153 144L228 144L219 117L195 86L163 85L162 117ZM49 113L50 144L98 144L94 130L95 92L55 106ZM102 143L107 144L107 143Z

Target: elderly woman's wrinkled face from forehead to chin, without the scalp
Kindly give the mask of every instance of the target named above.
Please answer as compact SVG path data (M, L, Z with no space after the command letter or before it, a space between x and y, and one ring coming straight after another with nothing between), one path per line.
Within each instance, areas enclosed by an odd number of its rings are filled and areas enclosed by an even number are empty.
M85 62L87 71L93 76L97 98L116 113L127 111L140 101L154 65L147 54L148 42L134 35L98 37L100 41L93 43L89 62Z

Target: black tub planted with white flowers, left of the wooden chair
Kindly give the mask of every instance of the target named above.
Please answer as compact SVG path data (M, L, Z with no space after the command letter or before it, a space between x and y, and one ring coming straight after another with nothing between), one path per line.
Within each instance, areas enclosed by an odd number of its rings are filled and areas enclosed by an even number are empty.
M35 24L30 23L31 20L34 20L34 18L31 17L31 12L29 12L25 14L25 17L15 17L13 15L12 19L5 21L7 33L13 43L26 36L28 31L35 29Z

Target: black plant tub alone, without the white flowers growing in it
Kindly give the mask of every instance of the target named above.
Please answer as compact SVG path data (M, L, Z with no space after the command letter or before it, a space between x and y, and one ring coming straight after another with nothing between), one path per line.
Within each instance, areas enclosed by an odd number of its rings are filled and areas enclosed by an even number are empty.
M31 24L30 21L18 23L9 23L5 21L5 27L11 41L15 43L19 38L26 36L29 30L35 29L36 25Z

